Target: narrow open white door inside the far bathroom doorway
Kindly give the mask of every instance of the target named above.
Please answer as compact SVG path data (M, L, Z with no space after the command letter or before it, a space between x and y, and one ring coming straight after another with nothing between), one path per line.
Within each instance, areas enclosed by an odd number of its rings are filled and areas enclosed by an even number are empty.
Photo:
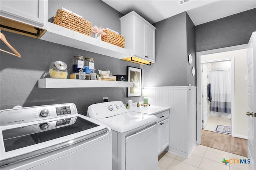
M202 69L202 128L207 124L207 72L203 64Z

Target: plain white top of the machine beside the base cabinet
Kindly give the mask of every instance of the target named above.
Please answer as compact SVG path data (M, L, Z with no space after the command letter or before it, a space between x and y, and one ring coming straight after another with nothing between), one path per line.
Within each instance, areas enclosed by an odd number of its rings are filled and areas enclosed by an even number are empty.
M104 123L116 132L124 133L157 121L157 117L129 111L120 115L97 119L97 121Z

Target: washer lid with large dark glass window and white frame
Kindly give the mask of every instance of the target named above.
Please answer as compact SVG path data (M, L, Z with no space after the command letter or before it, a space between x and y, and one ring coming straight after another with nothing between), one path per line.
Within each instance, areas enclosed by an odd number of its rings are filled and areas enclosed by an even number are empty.
M110 129L103 123L84 115L76 114L75 116L68 115L60 119L1 126L0 168L40 154L51 155L51 151L57 152L59 148L67 147L68 150L73 147L72 144L82 140L84 140L84 146L88 146L91 144L90 141L97 142L111 136ZM46 123L49 127L41 130L40 125Z

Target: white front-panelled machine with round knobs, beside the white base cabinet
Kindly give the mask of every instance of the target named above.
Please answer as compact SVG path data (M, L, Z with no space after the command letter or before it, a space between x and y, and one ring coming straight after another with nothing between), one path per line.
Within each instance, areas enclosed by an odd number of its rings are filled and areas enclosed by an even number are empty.
M90 105L87 116L112 129L112 169L158 169L156 116L129 111L122 101Z

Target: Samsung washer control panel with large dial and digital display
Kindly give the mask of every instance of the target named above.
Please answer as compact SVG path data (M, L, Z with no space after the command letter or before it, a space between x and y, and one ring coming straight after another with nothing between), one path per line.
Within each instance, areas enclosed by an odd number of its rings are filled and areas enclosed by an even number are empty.
M74 103L22 107L0 111L0 123L1 126L15 125L75 114L77 114L77 109Z

